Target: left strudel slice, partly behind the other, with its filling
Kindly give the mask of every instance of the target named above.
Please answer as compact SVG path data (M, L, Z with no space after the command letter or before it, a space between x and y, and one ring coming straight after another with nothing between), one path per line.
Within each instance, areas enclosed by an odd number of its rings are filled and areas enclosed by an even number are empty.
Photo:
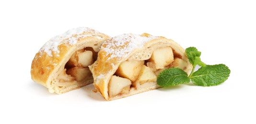
M50 39L35 54L31 77L50 93L66 93L93 83L91 65L109 36L89 28L71 29Z

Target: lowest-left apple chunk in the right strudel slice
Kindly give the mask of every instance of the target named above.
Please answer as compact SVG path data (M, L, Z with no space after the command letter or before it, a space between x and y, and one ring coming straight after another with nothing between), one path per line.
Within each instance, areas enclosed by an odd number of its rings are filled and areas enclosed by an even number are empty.
M129 79L113 75L108 83L109 96L114 97L119 93L128 93L130 85L131 81Z

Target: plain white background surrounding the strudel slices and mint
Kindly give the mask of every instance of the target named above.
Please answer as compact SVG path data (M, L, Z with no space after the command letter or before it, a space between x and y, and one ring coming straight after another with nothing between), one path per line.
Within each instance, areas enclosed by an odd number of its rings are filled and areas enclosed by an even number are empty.
M0 124L256 124L254 1L1 0ZM92 85L48 93L30 77L35 53L81 26L110 36L164 36L197 47L203 62L224 63L231 74L219 86L182 84L110 102Z

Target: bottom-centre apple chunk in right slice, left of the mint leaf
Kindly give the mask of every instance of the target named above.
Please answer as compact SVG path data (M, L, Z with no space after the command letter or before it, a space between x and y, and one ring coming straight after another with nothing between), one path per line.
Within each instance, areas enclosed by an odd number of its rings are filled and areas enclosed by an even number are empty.
M140 70L140 75L135 83L146 83L146 82L155 82L156 81L156 75L153 71L146 65L142 65L142 68Z

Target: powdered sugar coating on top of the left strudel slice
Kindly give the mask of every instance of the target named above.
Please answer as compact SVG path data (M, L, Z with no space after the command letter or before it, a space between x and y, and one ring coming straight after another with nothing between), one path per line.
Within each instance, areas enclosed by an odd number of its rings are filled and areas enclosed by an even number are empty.
M84 32L92 32L92 35L88 35ZM63 43L68 43L70 45L74 45L77 43L79 38L84 37L96 37L98 39L103 39L102 37L97 36L100 32L95 31L86 27L79 27L75 29L71 29L63 34L55 36L51 38L45 45L40 49L41 55L43 52L46 52L48 56L52 56L52 52L59 53L58 46ZM74 35L76 35L74 37Z

